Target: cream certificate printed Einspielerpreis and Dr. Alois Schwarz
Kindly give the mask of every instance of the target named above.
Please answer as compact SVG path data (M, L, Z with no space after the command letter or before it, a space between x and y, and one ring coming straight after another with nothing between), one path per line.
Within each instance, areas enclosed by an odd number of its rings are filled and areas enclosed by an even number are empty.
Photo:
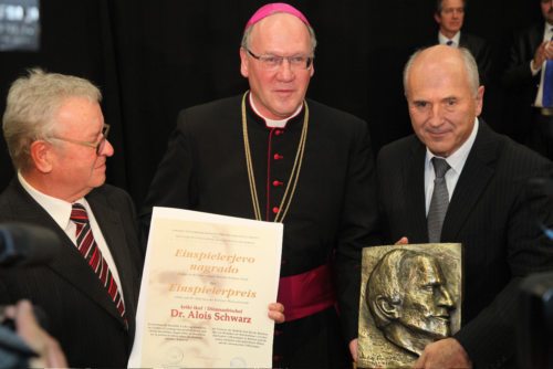
M282 231L155 208L129 367L271 367Z

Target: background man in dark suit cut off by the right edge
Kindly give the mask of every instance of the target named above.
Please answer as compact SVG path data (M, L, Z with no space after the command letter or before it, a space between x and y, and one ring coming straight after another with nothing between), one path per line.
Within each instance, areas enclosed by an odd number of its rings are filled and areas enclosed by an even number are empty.
M540 0L544 21L514 35L503 83L511 92L521 140L553 159L553 105L544 102L547 61L553 60L553 1Z

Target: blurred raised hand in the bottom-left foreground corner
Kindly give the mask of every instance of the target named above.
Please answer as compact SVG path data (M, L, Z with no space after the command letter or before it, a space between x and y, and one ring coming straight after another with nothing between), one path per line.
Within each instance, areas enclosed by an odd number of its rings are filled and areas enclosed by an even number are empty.
M39 354L38 358L30 361L32 367L67 367L60 344L36 323L31 303L20 301L15 306L8 306L4 313L7 317L15 320L18 335Z

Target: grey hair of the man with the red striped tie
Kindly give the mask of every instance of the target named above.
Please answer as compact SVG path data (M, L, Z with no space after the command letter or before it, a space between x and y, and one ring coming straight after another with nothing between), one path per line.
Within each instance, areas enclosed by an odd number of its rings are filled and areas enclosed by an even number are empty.
M100 103L102 93L91 82L41 68L28 71L8 92L2 129L8 151L17 170L31 166L31 144L48 140L55 133L55 115L69 97L85 97Z

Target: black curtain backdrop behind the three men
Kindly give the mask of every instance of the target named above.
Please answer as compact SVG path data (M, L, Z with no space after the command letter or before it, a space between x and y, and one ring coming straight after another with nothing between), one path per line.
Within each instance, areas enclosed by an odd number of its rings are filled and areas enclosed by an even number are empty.
M107 181L128 190L139 205L178 110L247 88L239 70L241 33L267 2L42 0L41 51L0 53L0 110L10 83L28 67L93 81L103 91L115 147ZM410 134L401 70L408 55L436 33L434 0L291 3L317 33L309 96L366 119L375 151ZM539 7L539 0L470 1L463 30L493 45L498 75L510 34L540 20ZM492 83L487 92L490 124L515 131L505 117L501 88ZM12 176L2 140L0 189Z

